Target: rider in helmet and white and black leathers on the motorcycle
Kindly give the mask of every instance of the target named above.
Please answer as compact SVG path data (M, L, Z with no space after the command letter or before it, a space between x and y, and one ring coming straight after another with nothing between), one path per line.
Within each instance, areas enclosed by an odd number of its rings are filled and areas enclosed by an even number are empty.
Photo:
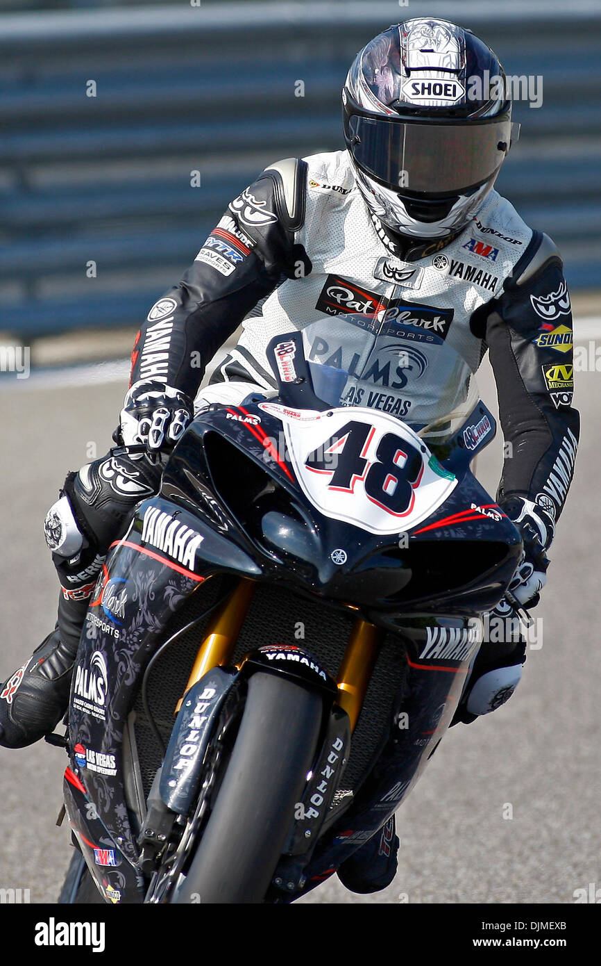
M503 68L468 30L432 18L388 28L357 54L346 77L346 150L266 168L231 202L178 285L152 306L134 345L114 435L119 448L69 473L46 517L61 582L58 623L0 686L0 744L29 745L63 717L108 547L133 506L157 491L166 454L193 418L205 365L242 320L242 336L197 407L237 405L253 390L270 391L270 339L304 330L324 313L345 316L341 324L333 319L327 345L313 346L313 357L331 365L353 313L386 319L398 306L410 319L396 326L401 347L432 339L427 323L435 311L437 338L463 360L458 378L476 372L488 350L510 443L497 498L524 543L510 589L520 604L537 603L579 435L570 301L553 241L493 188L515 126L504 83L490 85L491 78L505 81ZM377 367L375 380L388 392L377 399L397 405ZM144 453L122 448L141 443ZM523 640L482 645L454 722L503 703L524 655ZM390 843L394 828L383 834ZM349 888L368 892L388 885L395 870L396 849L382 849L376 836L339 874Z

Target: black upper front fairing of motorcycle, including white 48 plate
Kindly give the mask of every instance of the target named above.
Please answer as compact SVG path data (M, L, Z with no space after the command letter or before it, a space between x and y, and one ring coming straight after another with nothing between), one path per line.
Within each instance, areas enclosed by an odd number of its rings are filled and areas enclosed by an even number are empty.
M521 538L470 471L495 435L478 397L462 418L418 436L387 412L341 406L348 373L308 364L301 333L272 341L272 368L279 352L294 379L275 397L200 412L163 495L196 505L211 526L229 520L265 576L359 607L375 623L390 627L426 603L467 616L495 607Z

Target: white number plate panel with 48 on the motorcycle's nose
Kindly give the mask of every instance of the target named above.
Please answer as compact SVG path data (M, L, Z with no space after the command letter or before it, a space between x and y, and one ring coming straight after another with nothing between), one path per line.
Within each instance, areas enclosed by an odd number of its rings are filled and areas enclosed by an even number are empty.
M298 482L322 513L370 533L417 526L457 480L423 440L386 412L356 407L281 411L290 462Z

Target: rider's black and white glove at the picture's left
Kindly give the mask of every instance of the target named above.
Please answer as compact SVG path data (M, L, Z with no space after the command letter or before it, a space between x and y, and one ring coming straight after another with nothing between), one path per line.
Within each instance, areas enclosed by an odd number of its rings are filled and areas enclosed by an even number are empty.
M173 449L194 415L185 392L153 380L141 380L127 390L118 441L145 445L151 454Z

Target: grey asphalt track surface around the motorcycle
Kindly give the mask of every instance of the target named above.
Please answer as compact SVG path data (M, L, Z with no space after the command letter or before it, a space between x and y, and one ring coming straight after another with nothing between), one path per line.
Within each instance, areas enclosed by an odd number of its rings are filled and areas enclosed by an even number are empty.
M118 381L91 382L90 370L75 369L0 386L0 680L54 625L57 582L41 524L66 471L110 445L125 384L124 366L114 371ZM575 482L533 614L542 646L530 649L517 693L486 719L452 728L398 810L392 886L354 895L334 876L302 902L572 903L575 890L601 887L600 381L596 372L577 377ZM492 408L490 376L478 383ZM499 434L478 464L493 493L501 446ZM56 901L72 854L67 824L55 827L66 764L44 743L0 749L0 888L29 889L32 903Z

